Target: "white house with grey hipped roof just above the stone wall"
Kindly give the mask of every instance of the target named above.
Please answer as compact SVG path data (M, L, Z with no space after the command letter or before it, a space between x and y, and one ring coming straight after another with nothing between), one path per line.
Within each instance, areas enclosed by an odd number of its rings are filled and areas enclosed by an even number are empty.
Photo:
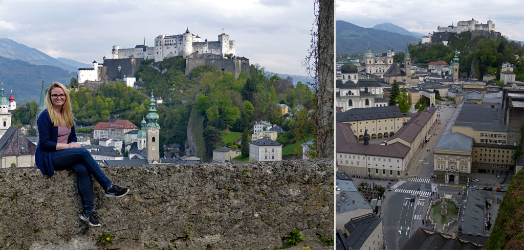
M282 144L267 137L249 142L249 160L280 161L282 160Z

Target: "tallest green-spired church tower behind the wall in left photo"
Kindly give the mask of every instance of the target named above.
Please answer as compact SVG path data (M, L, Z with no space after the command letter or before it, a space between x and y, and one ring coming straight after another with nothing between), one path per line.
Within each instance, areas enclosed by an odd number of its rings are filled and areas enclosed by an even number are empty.
M158 114L155 106L155 97L153 97L153 92L151 92L151 99L149 99L149 113L146 115L146 148L148 163L155 163L155 161L158 163L160 159L160 149L158 145L158 140L160 139L160 125L158 125Z

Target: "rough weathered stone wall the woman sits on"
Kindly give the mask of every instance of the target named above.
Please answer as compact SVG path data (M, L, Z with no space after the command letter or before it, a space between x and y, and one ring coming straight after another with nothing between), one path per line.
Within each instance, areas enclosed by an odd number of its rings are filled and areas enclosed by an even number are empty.
M333 160L102 167L129 187L106 198L96 182L102 227L81 221L76 174L0 170L0 248L274 249L293 229L304 246L333 237ZM176 248L173 245L176 244Z

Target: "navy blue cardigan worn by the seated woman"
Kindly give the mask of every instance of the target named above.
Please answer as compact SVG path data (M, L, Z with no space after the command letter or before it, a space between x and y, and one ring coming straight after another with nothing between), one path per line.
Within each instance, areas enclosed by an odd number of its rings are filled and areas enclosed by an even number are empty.
M42 174L52 176L54 174L53 152L57 151L58 127L53 126L47 110L43 110L38 116L37 126L40 138L35 152L36 165ZM74 126L71 127L67 142L77 142Z

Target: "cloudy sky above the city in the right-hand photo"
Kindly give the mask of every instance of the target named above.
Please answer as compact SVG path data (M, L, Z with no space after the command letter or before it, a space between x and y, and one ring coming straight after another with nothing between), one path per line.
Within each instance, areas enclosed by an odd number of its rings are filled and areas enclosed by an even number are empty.
M524 1L522 0L336 0L336 20L371 28L391 22L409 31L433 33L437 26L456 25L474 18L492 20L495 30L509 39L524 41Z

